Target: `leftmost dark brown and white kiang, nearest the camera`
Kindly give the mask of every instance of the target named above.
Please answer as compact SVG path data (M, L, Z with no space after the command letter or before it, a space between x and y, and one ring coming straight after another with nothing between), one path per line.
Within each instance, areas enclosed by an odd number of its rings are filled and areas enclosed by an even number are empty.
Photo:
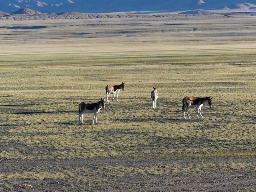
M96 121L95 123L97 124L97 114L100 112L100 109L103 107L103 109L105 108L105 99L100 99L100 101L98 103L87 103L87 102L82 102L79 104L79 124L84 124L83 122L83 116L84 116L84 112L85 113L94 113L93 115L93 119L92 119L92 124L94 124L94 119L96 117ZM80 121L81 120L81 121Z

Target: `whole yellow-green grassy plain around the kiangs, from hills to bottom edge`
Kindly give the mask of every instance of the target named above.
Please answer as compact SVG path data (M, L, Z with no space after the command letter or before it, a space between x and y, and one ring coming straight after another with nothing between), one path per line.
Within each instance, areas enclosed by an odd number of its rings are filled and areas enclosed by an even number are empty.
M1 21L0 191L256 190L255 19Z

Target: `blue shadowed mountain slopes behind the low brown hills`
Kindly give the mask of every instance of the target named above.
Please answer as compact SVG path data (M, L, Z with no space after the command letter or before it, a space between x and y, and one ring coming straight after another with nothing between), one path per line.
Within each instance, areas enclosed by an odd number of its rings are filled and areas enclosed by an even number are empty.
M249 12L254 10L256 0L0 0L0 9L5 13L27 8L41 13L51 12L186 12L223 10ZM227 9L225 10L226 7ZM248 8L249 7L249 8ZM230 10L229 10L230 9ZM160 11L158 11L160 10ZM236 12L236 11L235 11Z

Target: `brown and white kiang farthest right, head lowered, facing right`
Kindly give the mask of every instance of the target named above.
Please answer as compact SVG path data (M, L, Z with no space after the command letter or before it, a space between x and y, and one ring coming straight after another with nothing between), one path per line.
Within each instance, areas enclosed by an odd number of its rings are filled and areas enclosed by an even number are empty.
M188 109L189 108L197 108L197 114L196 117L199 118L198 113L200 110L200 116L202 116L202 111L201 111L201 107L205 104L208 103L210 108L212 108L212 100L214 99L214 97L184 97L184 99L182 100L182 113L184 118L185 117L185 111L188 115ZM189 115L188 118L190 119Z

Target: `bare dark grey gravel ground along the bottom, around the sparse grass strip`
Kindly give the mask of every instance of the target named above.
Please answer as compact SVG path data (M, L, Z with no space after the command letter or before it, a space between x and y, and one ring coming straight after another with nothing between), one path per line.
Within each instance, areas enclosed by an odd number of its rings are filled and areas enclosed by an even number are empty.
M70 170L64 173L67 179L22 180L12 183L14 188L5 188L2 191L253 191L256 186L256 172L225 170L225 173L216 167L214 171L202 174L134 174L123 172L121 175L101 173L107 167L132 167L133 170L142 167L158 166L163 169L166 164L180 164L181 167L196 166L197 164L240 163L250 164L254 158L168 158L168 159L72 159L72 160L4 160L1 162L1 173L16 172L17 170L34 170L58 172L62 168ZM45 167L48 167L45 170ZM72 170L80 169L72 177ZM90 168L93 172L84 172ZM228 173L227 173L228 171ZM78 179L80 178L80 179ZM89 178L83 180L83 178ZM26 188L31 185L32 188ZM11 186L10 186L11 187ZM24 188L24 189L22 189ZM26 190L25 190L26 188Z

